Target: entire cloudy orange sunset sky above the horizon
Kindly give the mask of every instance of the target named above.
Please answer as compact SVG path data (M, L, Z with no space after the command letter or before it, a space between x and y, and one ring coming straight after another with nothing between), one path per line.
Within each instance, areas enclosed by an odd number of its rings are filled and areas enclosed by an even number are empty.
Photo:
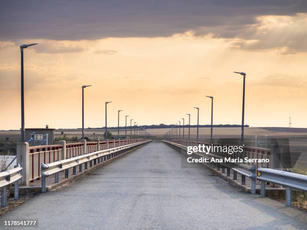
M6 1L0 8L0 129L245 124L307 127L307 2Z

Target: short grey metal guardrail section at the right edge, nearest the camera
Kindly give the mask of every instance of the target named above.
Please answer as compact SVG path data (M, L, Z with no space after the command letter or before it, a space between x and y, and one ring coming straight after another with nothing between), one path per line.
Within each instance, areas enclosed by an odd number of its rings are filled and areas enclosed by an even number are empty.
M306 175L270 168L258 168L257 179L261 181L260 197L265 197L265 182L284 186L287 206L291 206L291 188L307 191Z

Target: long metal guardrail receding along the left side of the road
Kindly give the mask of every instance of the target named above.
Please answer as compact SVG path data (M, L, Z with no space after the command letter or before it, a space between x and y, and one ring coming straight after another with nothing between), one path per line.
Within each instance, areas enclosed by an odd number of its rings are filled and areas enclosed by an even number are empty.
M112 159L115 156L118 156L123 151L131 149L134 146L145 144L149 141L141 141L128 145L122 145L119 147L114 147L105 150L99 150L96 152L72 157L65 160L59 160L49 164L41 164L41 173L42 173L42 192L46 192L46 177L55 175L55 183L59 182L59 172L65 171L65 178L68 178L69 169L73 168L73 175L76 175L76 167L79 165L79 172L82 172L82 164L84 164L84 169L87 169L87 163L92 167L92 164L96 165L97 163L104 162L106 160Z

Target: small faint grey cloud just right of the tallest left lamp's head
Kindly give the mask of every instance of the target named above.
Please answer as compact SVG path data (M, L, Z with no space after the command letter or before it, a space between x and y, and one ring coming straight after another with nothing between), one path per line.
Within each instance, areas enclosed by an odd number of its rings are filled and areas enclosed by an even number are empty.
M73 41L43 41L33 48L37 53L46 54L78 53L88 50L86 46Z

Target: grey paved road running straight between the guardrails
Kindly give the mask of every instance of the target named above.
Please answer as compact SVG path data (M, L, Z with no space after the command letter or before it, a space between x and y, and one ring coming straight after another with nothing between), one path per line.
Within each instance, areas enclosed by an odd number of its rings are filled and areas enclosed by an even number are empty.
M181 168L177 150L151 142L0 221L38 219L42 229L306 229L306 216L238 192L204 167Z

